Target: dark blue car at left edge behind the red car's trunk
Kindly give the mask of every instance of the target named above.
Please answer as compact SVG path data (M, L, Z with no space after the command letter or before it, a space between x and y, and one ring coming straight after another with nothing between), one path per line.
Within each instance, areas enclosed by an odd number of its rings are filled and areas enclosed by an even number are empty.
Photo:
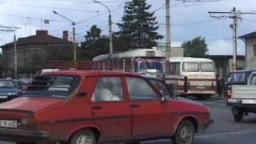
M13 80L0 79L0 102L17 98L19 94L21 94L21 90Z

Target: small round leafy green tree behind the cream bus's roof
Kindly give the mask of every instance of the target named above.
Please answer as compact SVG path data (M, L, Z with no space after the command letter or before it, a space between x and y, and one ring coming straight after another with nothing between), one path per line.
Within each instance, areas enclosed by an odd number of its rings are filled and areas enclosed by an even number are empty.
M197 37L190 41L183 42L184 55L186 57L203 58L208 51L205 38Z

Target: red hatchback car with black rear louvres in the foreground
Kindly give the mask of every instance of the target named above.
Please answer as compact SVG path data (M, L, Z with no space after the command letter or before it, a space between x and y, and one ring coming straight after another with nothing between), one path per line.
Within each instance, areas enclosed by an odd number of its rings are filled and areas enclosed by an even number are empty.
M56 71L0 105L0 140L190 144L213 121L206 106L174 98L166 84L136 74Z

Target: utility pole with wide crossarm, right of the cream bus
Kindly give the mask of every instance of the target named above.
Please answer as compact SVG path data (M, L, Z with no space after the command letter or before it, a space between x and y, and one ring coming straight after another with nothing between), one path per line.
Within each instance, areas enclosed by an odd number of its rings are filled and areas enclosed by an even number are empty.
M232 18L233 24L230 25L230 28L233 30L233 71L237 69L237 50L238 50L238 19L241 19L241 14L256 14L256 13L242 13L239 10L236 10L234 7L230 12L226 11L209 11L210 17L212 18ZM214 15L222 14L222 15Z

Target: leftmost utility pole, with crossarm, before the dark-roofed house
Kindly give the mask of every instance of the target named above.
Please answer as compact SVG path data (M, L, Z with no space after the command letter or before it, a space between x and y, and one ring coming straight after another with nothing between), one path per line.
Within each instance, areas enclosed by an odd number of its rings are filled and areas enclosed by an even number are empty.
M0 26L0 28L1 28L0 31L14 32L14 77L15 79L17 79L18 78L18 62L17 62L17 40L16 40L15 31L20 28L12 27L12 26Z

